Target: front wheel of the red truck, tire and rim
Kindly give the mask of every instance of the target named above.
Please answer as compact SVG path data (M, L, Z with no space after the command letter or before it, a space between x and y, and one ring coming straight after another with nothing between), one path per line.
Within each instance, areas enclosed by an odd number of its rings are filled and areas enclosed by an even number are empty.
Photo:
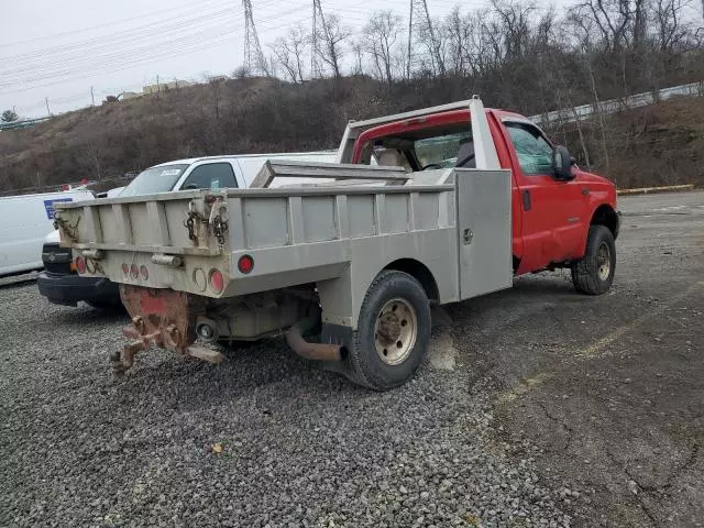
M586 252L572 265L572 283L578 292L602 295L610 288L616 273L614 235L604 226L592 226L586 239Z

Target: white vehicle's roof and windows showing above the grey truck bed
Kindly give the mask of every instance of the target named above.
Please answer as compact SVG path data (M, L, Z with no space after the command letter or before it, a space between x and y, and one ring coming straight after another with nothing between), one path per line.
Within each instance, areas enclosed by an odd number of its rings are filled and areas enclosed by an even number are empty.
M338 151L207 156L162 163L141 172L120 197L186 189L248 188L267 160L334 163ZM293 184L290 178L286 182ZM276 185L273 185L276 187Z

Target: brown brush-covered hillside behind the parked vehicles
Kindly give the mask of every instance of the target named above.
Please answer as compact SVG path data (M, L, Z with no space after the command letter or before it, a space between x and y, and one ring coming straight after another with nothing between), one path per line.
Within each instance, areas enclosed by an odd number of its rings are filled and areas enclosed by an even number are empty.
M350 119L464 99L477 88L460 78L392 85L362 76L305 84L244 78L105 103L0 133L0 190L109 179L179 157L332 148ZM521 92L480 92L487 106L526 114L554 109ZM620 187L702 185L702 123L697 97L584 122L583 141L574 123L550 133Z

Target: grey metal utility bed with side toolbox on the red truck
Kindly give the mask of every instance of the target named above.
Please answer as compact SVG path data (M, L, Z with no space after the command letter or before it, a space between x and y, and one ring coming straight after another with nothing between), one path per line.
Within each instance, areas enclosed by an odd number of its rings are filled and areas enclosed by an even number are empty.
M267 162L260 183L273 177L366 183L69 204L57 215L62 243L88 276L211 298L316 283L323 320L350 327L374 277L397 261L425 266L439 302L510 286L508 170L409 179L400 167ZM244 255L251 271L239 268ZM213 270L221 292L208 280Z

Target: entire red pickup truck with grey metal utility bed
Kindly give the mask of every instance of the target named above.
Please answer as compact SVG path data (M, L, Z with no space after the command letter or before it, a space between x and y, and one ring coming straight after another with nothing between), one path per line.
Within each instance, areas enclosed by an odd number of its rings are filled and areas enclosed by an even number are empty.
M217 363L197 337L287 330L298 354L387 389L422 363L429 301L558 267L586 294L612 285L615 186L521 116L472 99L351 122L336 161L267 161L249 189L59 207L77 270L120 283L132 317L116 372L151 344ZM278 177L328 182L267 188Z

